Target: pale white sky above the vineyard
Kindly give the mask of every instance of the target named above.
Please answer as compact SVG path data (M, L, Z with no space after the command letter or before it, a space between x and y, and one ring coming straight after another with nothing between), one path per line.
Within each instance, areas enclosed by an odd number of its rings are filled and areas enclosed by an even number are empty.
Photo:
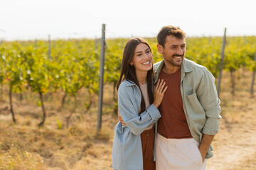
M255 0L0 0L0 40L256 35Z

